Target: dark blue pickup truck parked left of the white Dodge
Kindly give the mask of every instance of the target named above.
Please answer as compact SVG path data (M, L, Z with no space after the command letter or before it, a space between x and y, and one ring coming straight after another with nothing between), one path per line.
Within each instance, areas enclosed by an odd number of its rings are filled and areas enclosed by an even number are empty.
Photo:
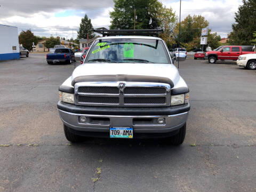
M71 63L72 61L76 61L76 60L75 60L75 54L71 49L61 48L61 49L55 49L54 53L46 54L46 61L48 64L53 64L56 62Z

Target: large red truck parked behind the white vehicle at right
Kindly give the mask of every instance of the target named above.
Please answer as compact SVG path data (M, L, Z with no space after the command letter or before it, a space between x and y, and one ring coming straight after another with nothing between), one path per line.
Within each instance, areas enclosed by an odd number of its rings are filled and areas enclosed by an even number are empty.
M204 59L207 59L209 63L215 63L217 60L237 60L239 55L254 53L252 48L253 46L220 46L213 51L206 52Z

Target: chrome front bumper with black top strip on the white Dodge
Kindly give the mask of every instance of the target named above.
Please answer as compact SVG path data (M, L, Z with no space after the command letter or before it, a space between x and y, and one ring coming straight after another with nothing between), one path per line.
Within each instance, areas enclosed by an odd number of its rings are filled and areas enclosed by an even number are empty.
M133 127L134 135L175 132L186 123L190 106L187 103L152 108L87 107L59 101L58 109L62 122L70 131L80 135L86 135L85 132L103 132L109 137L109 127ZM86 123L79 121L81 116L86 117ZM163 118L164 123L157 123L158 118Z

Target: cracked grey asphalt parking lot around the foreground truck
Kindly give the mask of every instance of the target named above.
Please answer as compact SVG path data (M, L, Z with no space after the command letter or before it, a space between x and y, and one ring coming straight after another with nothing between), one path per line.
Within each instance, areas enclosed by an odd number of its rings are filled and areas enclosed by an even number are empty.
M191 56L180 62L191 110L185 142L172 147L161 140L70 145L57 101L73 69L47 65L44 54L0 62L1 192L256 191L256 70Z

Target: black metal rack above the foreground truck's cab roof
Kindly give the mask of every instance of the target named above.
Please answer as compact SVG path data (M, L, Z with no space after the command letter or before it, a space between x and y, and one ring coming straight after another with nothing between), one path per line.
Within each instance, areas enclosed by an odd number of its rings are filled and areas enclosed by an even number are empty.
M126 30L108 30L108 29L95 29L95 33L102 34L103 37L106 36L125 36L125 35L142 35L142 36L155 36L158 37L162 33L163 29L126 29Z

